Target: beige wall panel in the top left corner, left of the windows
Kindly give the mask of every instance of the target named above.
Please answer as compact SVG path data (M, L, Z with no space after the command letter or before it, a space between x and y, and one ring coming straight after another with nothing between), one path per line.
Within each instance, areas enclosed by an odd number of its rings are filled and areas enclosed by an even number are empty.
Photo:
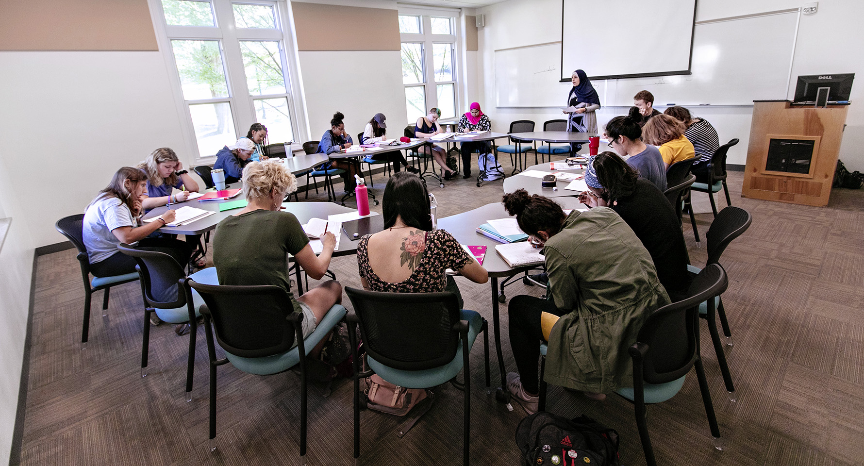
M2 0L0 50L158 50L147 0Z

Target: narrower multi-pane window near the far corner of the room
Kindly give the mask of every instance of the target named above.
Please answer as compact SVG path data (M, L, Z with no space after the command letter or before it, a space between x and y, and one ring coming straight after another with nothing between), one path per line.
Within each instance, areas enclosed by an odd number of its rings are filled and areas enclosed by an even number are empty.
M399 31L408 123L431 107L441 109L442 118L454 117L459 106L454 17L403 14Z

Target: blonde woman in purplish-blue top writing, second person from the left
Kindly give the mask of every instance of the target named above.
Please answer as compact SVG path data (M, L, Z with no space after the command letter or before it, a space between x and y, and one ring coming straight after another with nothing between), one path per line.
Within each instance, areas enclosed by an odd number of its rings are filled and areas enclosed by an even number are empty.
M143 195L141 200L145 212L168 203L186 201L189 193L198 192L198 182L183 169L183 163L177 158L175 151L168 147L150 152L150 155L138 164L138 168L147 174L147 194ZM172 194L175 188L181 192ZM174 234L160 236L176 237ZM200 252L200 238L200 234L186 235L187 245L192 251ZM197 255L203 256L203 253ZM206 264L203 258L193 262L196 267Z

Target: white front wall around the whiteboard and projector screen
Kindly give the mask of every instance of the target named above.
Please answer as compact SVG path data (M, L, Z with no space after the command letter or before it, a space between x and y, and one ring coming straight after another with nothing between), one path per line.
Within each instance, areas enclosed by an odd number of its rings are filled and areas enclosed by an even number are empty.
M696 21L798 8L801 4L796 0L699 2ZM486 26L480 28L478 37L478 67L482 70L480 87L486 102L495 102L494 50L560 41L561 13L561 2L557 0L510 0L477 10L477 14L486 15ZM861 82L864 80L864 55L857 53L859 46L855 45L864 43L864 30L857 24L857 19L862 16L864 2L822 0L815 15L801 17L788 96L791 98L794 94L799 74L857 74L858 82L852 87L852 105L849 106L840 150L840 158L852 170L864 169L864 152L860 149L864 146L864 82ZM770 37L771 31L766 31L766 40ZM848 50L855 53L848 53ZM627 53L633 51L622 51L622 56ZM562 85L562 105L568 90L569 85ZM662 97L656 97L659 102L664 102ZM658 110L662 112L664 107L658 105ZM729 151L728 163L746 163L752 106L699 107L691 111L714 124L722 142L738 137L740 144ZM507 131L512 120L534 120L537 130L541 130L543 121L562 118L557 108L549 107L495 108L487 104L484 112L492 118L494 131L503 132ZM609 119L625 112L625 107L605 106L597 113L598 123L602 128Z

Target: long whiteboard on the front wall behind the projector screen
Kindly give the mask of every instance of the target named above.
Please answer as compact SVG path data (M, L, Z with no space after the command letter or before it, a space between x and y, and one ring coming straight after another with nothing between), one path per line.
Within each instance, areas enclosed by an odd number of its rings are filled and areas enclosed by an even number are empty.
M592 83L607 106L630 106L643 89L654 94L655 106L786 99L797 22L797 9L699 22L691 74ZM571 84L559 82L561 42L496 50L494 61L497 106L564 106ZM591 76L591 70L585 71Z

